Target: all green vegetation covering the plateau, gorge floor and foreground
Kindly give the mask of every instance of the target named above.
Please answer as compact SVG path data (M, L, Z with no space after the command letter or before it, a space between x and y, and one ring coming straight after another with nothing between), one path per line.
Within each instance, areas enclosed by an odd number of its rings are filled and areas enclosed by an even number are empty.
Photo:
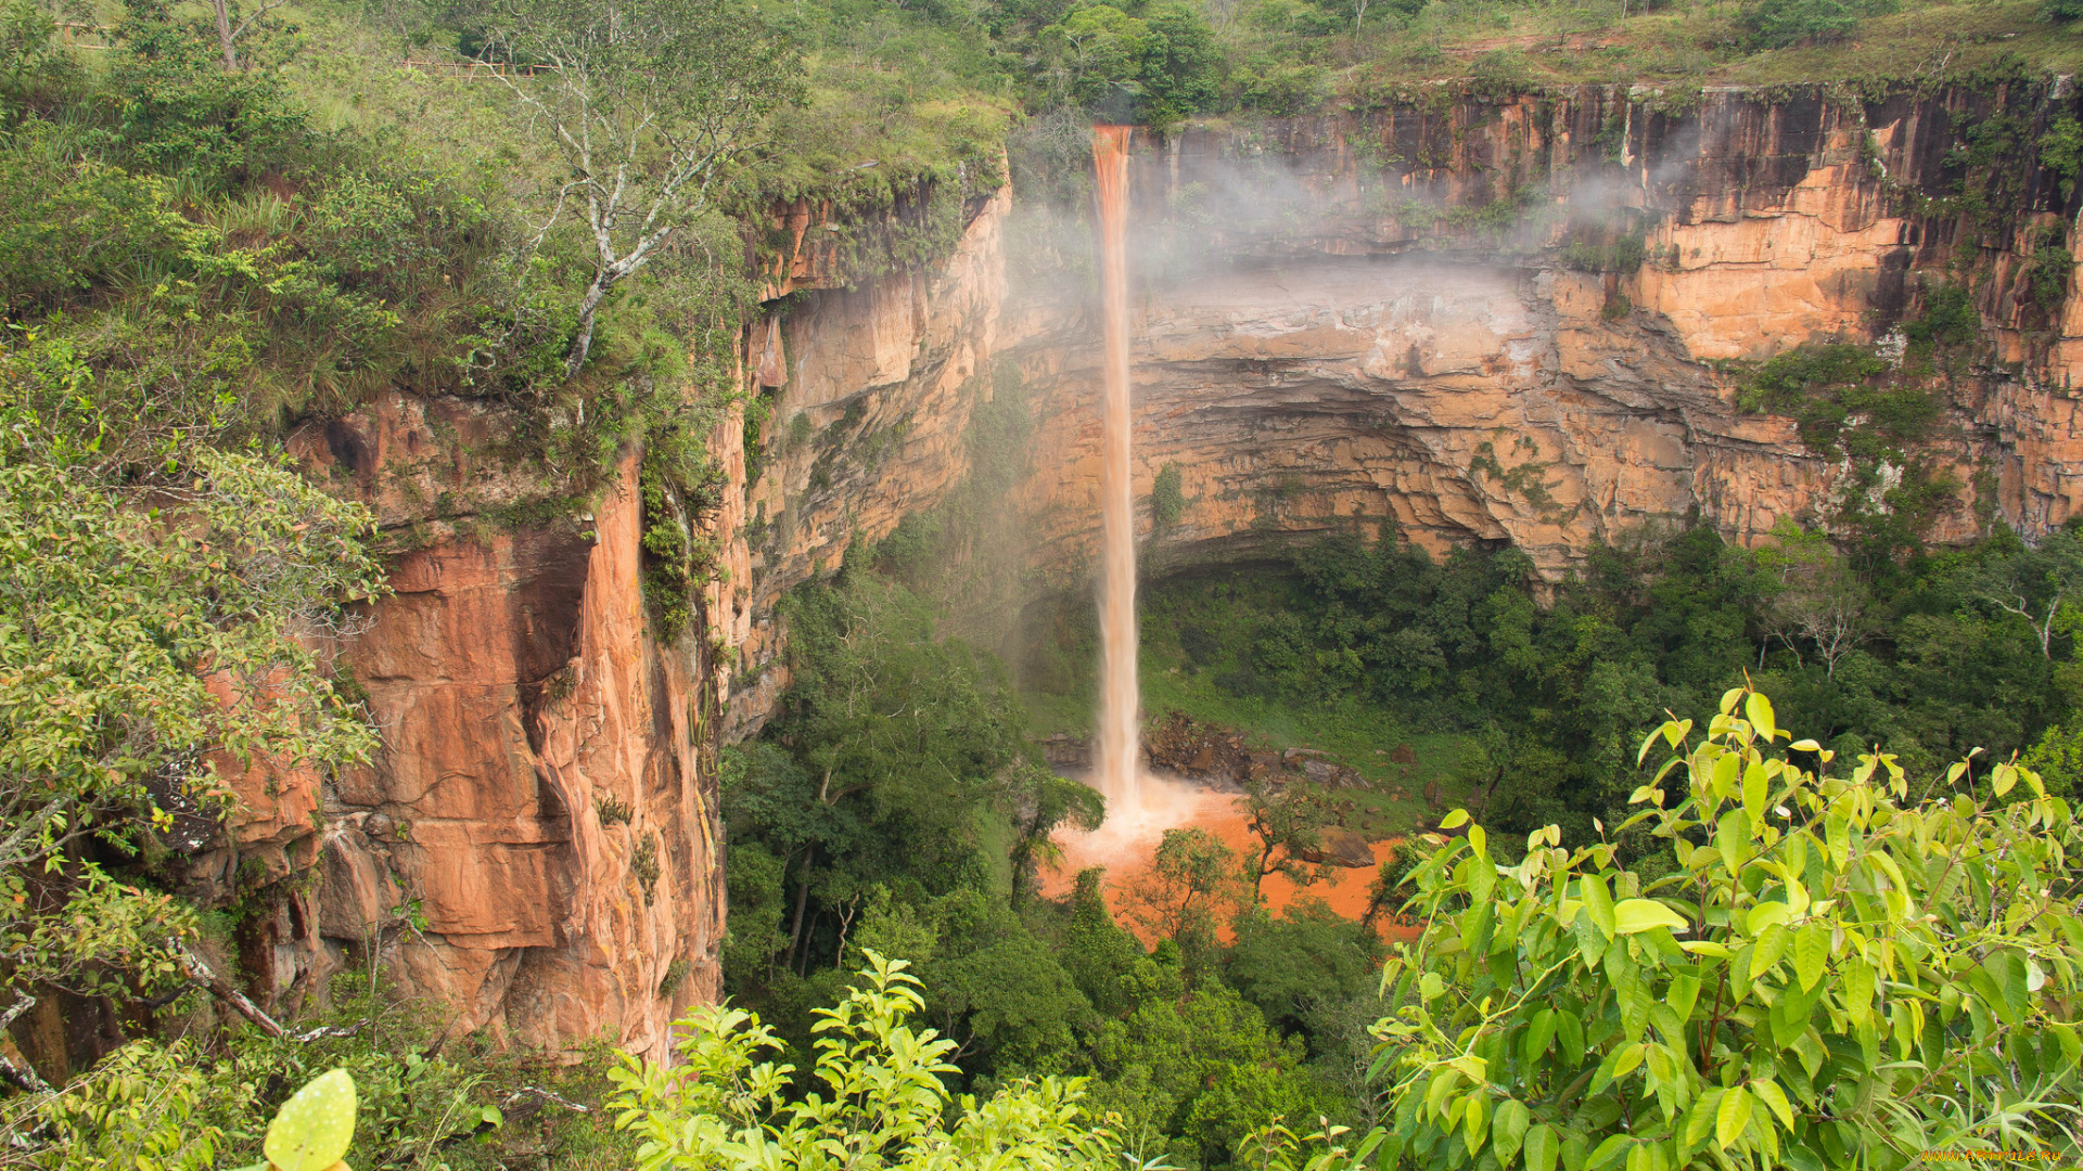
M1087 117L1254 119L1421 81L2075 73L2083 44L2068 0L650 0L617 8L633 40L596 60L575 29L602 10L0 4L0 1017L65 996L112 1046L60 1086L0 1050L0 1163L1635 1171L2075 1150L2077 542L1927 552L1885 517L1843 548L1646 538L1552 594L1510 550L1431 558L1394 531L1162 583L1154 698L1354 754L1419 738L1500 831L1419 842L1383 875L1381 915L1416 898L1431 923L1394 958L1369 923L1269 915L1204 833L1164 844L1129 923L1098 873L1044 898L1052 829L1102 817L1031 742L1035 711L1085 702L1079 619L1058 627L1069 658L1017 671L937 638L948 598L914 525L789 602L783 715L725 761L735 1006L689 1019L685 1065L450 1038L375 965L285 1006L287 1029L212 1008L237 1002L225 956L262 894L246 875L196 902L173 877L231 800L221 769L377 750L331 648L385 556L577 529L625 452L654 521L714 504L706 440L760 292L739 256L775 244L744 225L771 200L831 200L846 265L871 273L954 240L962 198L923 192L994 190L1008 138L1048 188L1050 142ZM444 69L471 60L560 69ZM602 88L556 81L581 75ZM598 100L721 138L621 140L625 192L554 133ZM1762 371L1756 394L1854 442L1846 419L1875 404L1837 358ZM352 469L323 471L300 427L392 390L496 404L510 427L477 454L519 469L523 498L427 502L440 531L350 500ZM692 527L652 538L675 629L708 550ZM1812 742L1727 692L1743 669ZM1656 731L1660 781L1635 769ZM1893 754L1862 758L1873 742ZM2025 769L1996 765L2014 750Z

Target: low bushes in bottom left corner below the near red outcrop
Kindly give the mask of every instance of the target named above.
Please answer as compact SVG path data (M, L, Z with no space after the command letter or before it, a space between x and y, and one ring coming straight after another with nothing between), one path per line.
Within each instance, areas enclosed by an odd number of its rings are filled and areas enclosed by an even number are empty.
M52 1094L15 1096L0 1113L12 1158L50 1171L102 1167L354 1167L477 1171L517 1158L610 1171L627 1167L629 1142L594 1111L573 1111L604 1092L602 1046L585 1067L560 1069L546 1054L487 1052L444 1036L450 1013L402 1000L348 973L333 983L335 1011L304 1031L265 1038L229 1031L137 1040ZM317 1086L352 1086L312 1119ZM292 1094L298 1086L304 1092ZM283 1150L298 1117L327 1121L325 1144ZM273 1119L273 1123L271 1123ZM598 1119L598 1121L596 1121ZM352 1136L352 1144L348 1142ZM329 1156L329 1158L327 1158Z

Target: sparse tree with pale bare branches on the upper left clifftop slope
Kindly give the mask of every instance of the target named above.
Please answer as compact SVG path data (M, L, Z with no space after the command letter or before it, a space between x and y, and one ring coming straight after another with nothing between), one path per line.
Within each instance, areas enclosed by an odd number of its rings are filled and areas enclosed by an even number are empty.
M710 210L767 115L802 92L796 50L731 0L496 0L492 50L567 173L594 277L564 377L585 367L600 302Z

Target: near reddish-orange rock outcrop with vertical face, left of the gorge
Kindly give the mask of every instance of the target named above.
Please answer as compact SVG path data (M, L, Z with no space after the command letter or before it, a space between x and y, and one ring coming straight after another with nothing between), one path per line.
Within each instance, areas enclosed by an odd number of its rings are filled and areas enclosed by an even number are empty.
M421 535L340 652L383 752L325 779L256 769L192 877L229 894L317 869L240 929L262 1002L381 963L458 1033L662 1056L719 986L712 669L700 640L648 629L633 460L592 513L429 517L442 492L525 488L465 454L498 427L481 404L390 396L298 435L315 475Z

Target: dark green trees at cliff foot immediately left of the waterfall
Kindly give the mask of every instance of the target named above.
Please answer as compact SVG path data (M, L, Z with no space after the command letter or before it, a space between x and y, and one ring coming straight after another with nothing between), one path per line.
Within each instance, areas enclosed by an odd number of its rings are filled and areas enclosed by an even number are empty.
M760 846L731 875L758 908L748 921L775 923L781 883L794 900L785 936L748 927L746 950L733 948L729 975L754 996L789 994L781 973L808 971L812 954L837 963L877 888L1010 898L1058 823L1096 819L1091 798L1025 761L996 661L935 638L931 608L902 586L848 569L792 594L783 613L792 686L773 742L733 752L723 779L733 854ZM769 950L754 956L750 940Z

